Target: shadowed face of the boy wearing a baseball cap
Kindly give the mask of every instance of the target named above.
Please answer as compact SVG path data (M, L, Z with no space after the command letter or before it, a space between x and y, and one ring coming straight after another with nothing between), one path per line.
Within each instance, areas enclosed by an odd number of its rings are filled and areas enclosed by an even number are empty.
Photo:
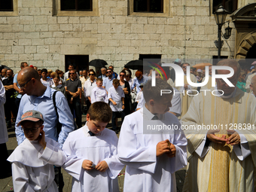
M44 126L38 126L38 123L28 120L24 121L22 128L26 138L29 139L29 141L36 141Z

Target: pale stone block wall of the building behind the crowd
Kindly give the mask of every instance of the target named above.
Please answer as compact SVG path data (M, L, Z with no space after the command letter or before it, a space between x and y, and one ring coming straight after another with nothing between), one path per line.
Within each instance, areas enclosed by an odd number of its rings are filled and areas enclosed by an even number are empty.
M80 68L92 59L105 59L118 72L141 55L183 60L218 55L213 0L163 0L162 14L133 12L132 0L92 0L93 11L60 11L60 1L13 0L14 11L0 11L1 65L17 72L20 62L27 61L40 69L65 71L73 55L85 56ZM248 3L238 1L237 6ZM236 44L233 29L221 55L236 57Z

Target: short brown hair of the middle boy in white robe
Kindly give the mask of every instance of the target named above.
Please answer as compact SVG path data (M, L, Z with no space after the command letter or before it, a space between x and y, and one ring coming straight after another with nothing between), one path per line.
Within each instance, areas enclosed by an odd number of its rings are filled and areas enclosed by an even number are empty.
M90 114L90 120L108 123L112 117L112 110L105 102L93 102L87 114Z

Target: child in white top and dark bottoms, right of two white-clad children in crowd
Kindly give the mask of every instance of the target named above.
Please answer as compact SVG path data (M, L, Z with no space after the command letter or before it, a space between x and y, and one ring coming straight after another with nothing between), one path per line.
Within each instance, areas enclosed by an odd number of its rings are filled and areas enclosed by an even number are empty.
M122 122L125 116L124 109L124 93L123 88L119 86L119 80L113 80L113 87L110 87L108 90L108 100L110 101L110 108L112 110L112 130L116 133L119 132L116 123L116 117L121 117Z

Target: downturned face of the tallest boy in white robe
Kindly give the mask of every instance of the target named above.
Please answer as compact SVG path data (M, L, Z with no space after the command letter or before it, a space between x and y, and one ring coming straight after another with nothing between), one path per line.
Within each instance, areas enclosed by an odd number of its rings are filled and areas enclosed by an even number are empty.
M172 107L172 96L163 96L163 98L154 101L151 99L150 105L153 108L153 112L156 114L165 114ZM152 112L152 111L151 111Z

